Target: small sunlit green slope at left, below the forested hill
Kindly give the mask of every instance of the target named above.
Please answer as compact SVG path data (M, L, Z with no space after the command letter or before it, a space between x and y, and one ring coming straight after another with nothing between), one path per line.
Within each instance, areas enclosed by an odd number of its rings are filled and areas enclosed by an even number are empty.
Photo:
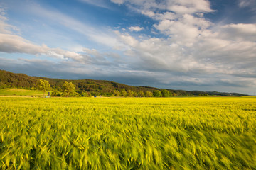
M36 91L36 90L14 89L14 88L0 89L0 96L43 96L43 92Z

